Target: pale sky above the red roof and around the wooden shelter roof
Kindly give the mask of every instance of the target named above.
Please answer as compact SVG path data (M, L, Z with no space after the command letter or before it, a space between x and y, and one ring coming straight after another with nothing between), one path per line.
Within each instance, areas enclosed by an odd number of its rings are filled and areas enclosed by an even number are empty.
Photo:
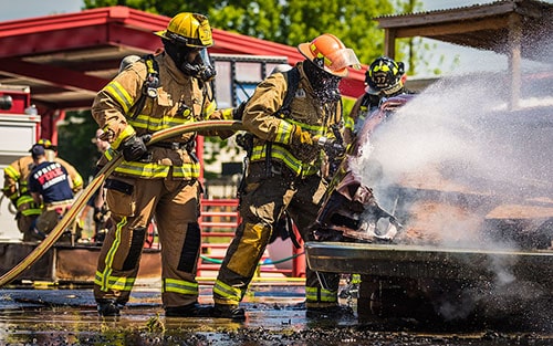
M463 6L493 2L490 0L422 0L425 11L457 8ZM553 0L544 2L553 3ZM58 13L72 13L81 11L82 0L0 0L0 21L33 18ZM507 57L492 52L479 52L473 49L425 40L432 46L429 54L429 66L439 64L445 73L463 73L471 66L489 66L490 70L507 69ZM444 62L440 62L444 60ZM458 60L459 62L455 62ZM368 62L367 62L368 63ZM422 72L420 77L429 76L429 72Z

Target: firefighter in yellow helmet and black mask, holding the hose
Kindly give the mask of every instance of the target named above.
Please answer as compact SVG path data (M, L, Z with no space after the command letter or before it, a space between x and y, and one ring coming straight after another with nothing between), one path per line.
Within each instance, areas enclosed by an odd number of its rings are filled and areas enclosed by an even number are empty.
M138 272L147 229L155 217L161 245L161 300L166 316L198 316L196 266L201 234L202 191L195 156L197 134L146 147L149 136L176 125L232 119L232 109L216 109L215 69L207 48L213 44L207 17L175 15L160 36L164 49L126 66L96 95L92 115L109 143L106 158L124 160L105 182L114 228L102 244L94 281L101 316L117 316L128 302ZM220 135L220 134L207 134ZM102 162L100 162L102 164Z

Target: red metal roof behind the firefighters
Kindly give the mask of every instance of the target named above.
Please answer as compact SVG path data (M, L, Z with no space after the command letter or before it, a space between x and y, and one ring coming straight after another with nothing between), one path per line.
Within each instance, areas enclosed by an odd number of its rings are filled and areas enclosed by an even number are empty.
M32 102L46 109L88 108L116 74L121 60L161 46L153 32L170 18L126 7L0 22L0 84L29 85ZM295 46L213 29L210 53L304 57ZM351 71L344 95L363 93L363 71Z

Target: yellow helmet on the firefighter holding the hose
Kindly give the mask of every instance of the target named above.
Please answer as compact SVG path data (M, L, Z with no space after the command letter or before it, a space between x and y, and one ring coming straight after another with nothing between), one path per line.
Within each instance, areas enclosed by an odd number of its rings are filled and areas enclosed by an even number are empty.
M156 35L188 46L208 48L213 45L211 27L206 15L182 12L175 15L166 30L155 32Z

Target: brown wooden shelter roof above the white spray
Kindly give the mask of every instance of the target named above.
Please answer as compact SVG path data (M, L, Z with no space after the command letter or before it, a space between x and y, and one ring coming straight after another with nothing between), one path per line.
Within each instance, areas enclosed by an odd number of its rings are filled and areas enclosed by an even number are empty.
M501 54L511 54L520 40L522 57L551 62L538 53L553 33L553 4L542 1L503 0L375 20L390 40L422 36Z

